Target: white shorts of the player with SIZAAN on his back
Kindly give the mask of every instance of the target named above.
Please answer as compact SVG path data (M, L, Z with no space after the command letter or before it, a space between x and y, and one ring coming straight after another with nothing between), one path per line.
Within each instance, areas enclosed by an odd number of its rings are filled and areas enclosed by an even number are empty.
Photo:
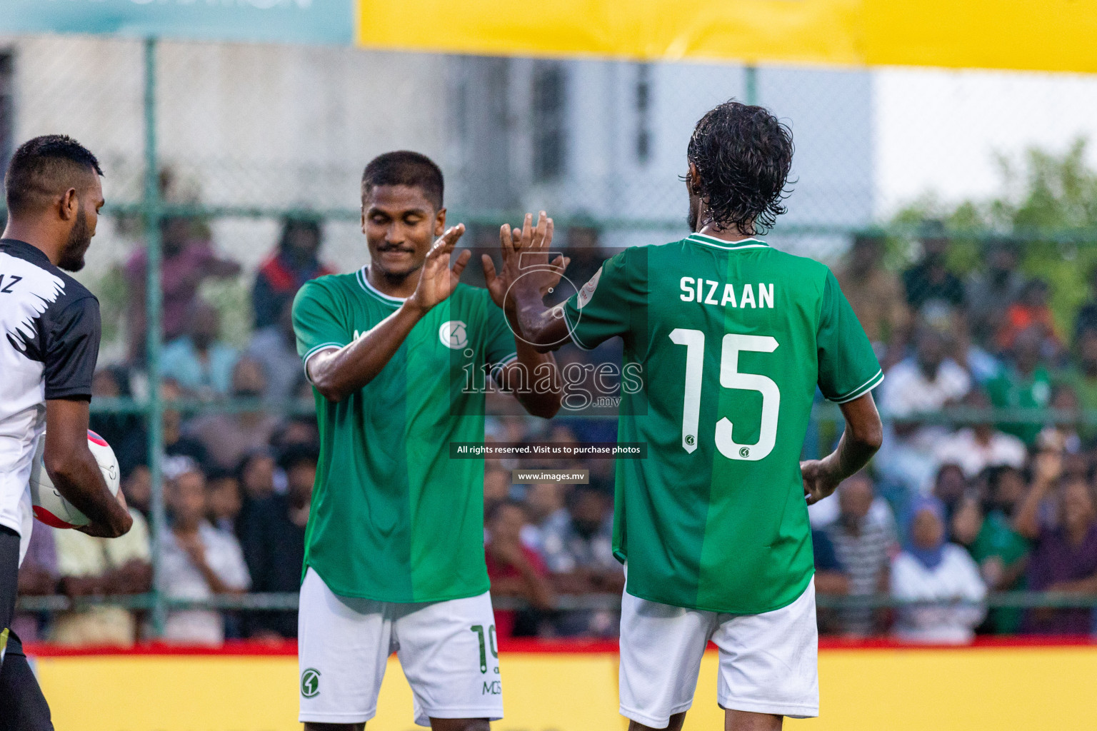
M721 708L818 716L815 582L787 607L732 615L668 606L625 591L621 605L621 715L654 729L693 705L701 656L720 649Z

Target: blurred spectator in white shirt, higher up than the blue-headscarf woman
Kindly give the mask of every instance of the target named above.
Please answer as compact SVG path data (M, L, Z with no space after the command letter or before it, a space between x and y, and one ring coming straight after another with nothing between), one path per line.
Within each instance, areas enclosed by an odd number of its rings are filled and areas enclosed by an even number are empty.
M892 416L913 416L939 411L966 396L971 377L946 356L945 334L921 328L913 357L895 365L881 386L880 407ZM885 478L907 489L929 491L938 444L949 435L947 426L906 422L885 424L884 445L877 466Z

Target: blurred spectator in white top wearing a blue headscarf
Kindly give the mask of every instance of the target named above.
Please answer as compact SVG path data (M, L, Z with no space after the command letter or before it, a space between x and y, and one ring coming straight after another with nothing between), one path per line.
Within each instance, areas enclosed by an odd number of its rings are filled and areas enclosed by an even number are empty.
M892 560L892 596L946 603L898 609L895 636L907 642L970 642L986 616L979 567L963 548L946 542L945 506L936 498L919 499L911 522L911 542Z

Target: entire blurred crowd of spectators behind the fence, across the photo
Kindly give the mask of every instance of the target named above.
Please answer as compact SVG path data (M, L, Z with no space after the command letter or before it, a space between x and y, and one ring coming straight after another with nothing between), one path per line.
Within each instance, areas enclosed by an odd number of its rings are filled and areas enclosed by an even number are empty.
M312 389L296 354L291 305L304 282L330 271L319 255L323 229L310 218L283 222L255 273L253 329L242 347L225 342L218 310L200 296L205 281L240 276L240 267L201 233L186 218L161 227L161 396L169 403L161 570L154 578L145 419L95 413L92 429L118 456L134 529L105 541L38 525L20 578L24 595L140 595L154 581L180 603L298 590L318 435L301 408ZM600 263L597 232L576 229L572 238L583 251L569 276L586 281ZM810 515L824 601L934 604L846 603L821 610L821 629L929 642L962 642L976 632L1090 633L1089 608L987 610L986 599L1022 590L1097 594L1097 422L1081 418L1097 410L1097 273L1094 296L1064 318L1049 304L1048 283L1022 274L1016 241L984 242L971 275L951 267L940 225L927 224L914 243L913 264L893 270L885 265L892 242L859 236L834 267L886 372L875 391L886 434L872 465ZM124 267L127 359L99 372L97 398L144 396L145 266L138 251ZM558 358L619 355L572 349ZM509 415L511 407L489 395L496 414L487 419L489 441L615 439L612 413L543 422ZM992 407L1007 411L980 416ZM1033 409L1045 411L1033 420ZM963 425L940 418L950 411ZM805 456L825 453L837 436L813 426ZM519 468L588 469L590 480L516 484ZM624 572L611 547L612 483L612 460L487 460L485 557L501 605L500 636L615 636L609 597L620 594ZM125 646L150 631L145 610L117 606L25 615L19 623L24 638L66 644ZM289 610L179 605L165 628L166 640L182 643L295 636Z

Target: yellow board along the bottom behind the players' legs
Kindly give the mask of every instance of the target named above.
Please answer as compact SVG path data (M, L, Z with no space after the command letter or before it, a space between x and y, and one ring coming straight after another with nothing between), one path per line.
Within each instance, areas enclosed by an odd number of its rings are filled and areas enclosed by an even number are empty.
M618 655L502 653L506 718L495 731L614 731ZM58 729L299 731L293 656L42 658ZM822 716L790 731L1079 729L1097 718L1097 647L824 650ZM687 731L723 728L708 653ZM412 731L392 660L370 731Z

